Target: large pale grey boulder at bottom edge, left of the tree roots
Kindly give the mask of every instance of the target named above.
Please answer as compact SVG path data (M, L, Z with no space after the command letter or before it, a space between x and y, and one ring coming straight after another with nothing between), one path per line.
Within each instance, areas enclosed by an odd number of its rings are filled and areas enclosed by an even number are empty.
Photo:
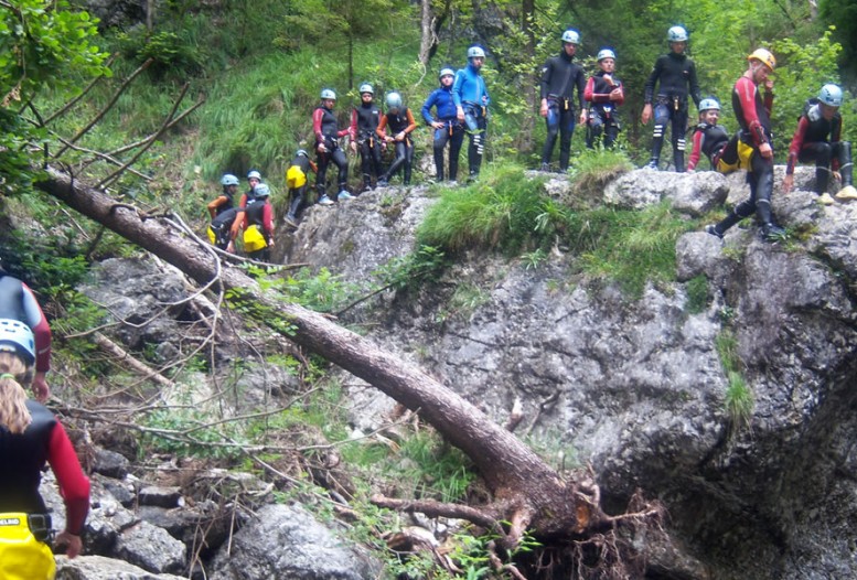
M266 505L221 548L212 580L361 580L379 566L304 509Z

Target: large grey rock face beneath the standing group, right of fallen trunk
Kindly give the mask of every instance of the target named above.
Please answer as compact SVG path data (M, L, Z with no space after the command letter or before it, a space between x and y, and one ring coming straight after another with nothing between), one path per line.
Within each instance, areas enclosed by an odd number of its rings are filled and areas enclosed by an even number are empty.
M774 193L776 219L794 233L789 243L760 241L752 219L722 241L686 234L676 244L677 281L650 286L640 300L580 278L569 257L532 270L480 256L416 298L383 298L384 323L373 339L497 422L521 398L521 434L558 468L591 462L614 511L638 487L661 498L671 534L709 567L710 578L857 577L848 539L857 536L857 452L849 443L857 437L857 203L819 205L813 179L812 168L799 168L795 189ZM668 200L698 217L748 193L743 173L635 171L610 184L603 202L641 208ZM410 207L425 205L411 200ZM395 223L373 229L377 216L352 211L338 207L335 227L319 224L306 237L299 230L300 260L335 265L347 279L365 272L351 259L331 259L335 248L390 239L399 229ZM388 247L393 255L410 249ZM373 267L382 258L375 255ZM695 278L707 286L699 313L688 309L687 282ZM462 282L482 292L481 305L444 318ZM728 334L754 399L743 429L726 410L717 344ZM353 390L355 425L379 426L388 400L372 402L384 398ZM675 566L674 577L707 577Z

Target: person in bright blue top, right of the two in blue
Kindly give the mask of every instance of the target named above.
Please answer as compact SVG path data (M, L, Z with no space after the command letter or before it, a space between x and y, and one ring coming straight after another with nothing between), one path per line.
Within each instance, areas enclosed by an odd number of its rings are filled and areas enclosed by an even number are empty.
M485 64L485 51L481 46L468 49L468 65L456 73L452 82L452 103L456 104L456 118L463 122L470 146L468 147L468 181L475 180L482 168L485 152L485 131L488 129L488 107L491 97L485 79L480 71Z

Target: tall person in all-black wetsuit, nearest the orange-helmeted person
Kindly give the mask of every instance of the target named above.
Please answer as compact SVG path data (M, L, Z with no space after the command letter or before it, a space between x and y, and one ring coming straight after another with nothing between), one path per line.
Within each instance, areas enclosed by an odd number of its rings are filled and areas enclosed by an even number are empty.
M646 168L657 169L661 149L664 146L666 125L672 121L673 162L675 170L685 171L685 130L687 129L687 98L694 99L699 107L699 82L696 78L696 65L685 54L687 31L673 26L666 33L669 53L655 61L652 74L645 84L645 105L642 121L647 125L654 107L655 128L652 139L652 158ZM655 85L658 85L655 93Z

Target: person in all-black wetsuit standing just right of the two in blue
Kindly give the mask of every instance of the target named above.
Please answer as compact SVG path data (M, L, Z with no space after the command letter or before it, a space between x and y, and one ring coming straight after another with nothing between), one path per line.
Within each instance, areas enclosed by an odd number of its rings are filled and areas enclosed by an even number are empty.
M539 114L547 122L547 138L542 150L542 171L550 170L550 157L554 153L557 133L559 133L559 171L568 170L568 158L571 154L571 136L576 122L587 121L583 90L586 75L583 68L572 62L577 47L580 45L580 33L567 30L563 33L563 52L551 56L542 67L542 106ZM575 87L577 87L577 105L580 118L576 116Z

